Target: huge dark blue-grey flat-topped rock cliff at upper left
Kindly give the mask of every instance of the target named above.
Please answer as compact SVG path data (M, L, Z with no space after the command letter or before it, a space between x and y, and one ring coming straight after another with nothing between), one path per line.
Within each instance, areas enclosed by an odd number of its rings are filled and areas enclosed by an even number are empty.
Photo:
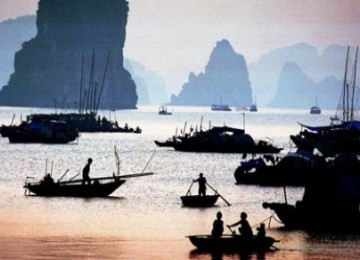
M40 0L37 35L15 54L0 105L77 107L82 90L82 100L101 93L99 108L136 108L136 86L123 68L128 11L125 0Z

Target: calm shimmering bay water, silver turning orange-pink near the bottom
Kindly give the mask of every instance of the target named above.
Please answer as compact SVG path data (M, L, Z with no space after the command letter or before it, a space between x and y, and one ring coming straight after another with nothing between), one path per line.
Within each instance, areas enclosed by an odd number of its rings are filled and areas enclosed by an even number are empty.
M67 145L10 144L0 138L0 259L360 259L360 236L309 234L283 231L274 219L267 231L279 239L280 249L262 256L199 254L187 235L209 233L216 212L226 224L246 211L254 227L273 212L264 201L284 201L282 188L235 185L233 176L240 154L181 153L159 148L154 140L166 140L186 128L226 124L243 127L255 139L270 138L291 150L289 135L305 124L328 124L332 111L310 115L308 110L259 112L212 112L210 108L169 107L172 116L160 116L158 107L143 106L100 114L120 125L140 126L142 134L82 133ZM10 124L44 109L0 107L0 124ZM69 111L68 111L69 112ZM27 176L42 178L46 168L55 179L78 174L88 157L93 158L90 176L110 176L116 171L114 145L120 150L121 173L146 171L155 175L131 178L105 199L42 198L24 196ZM47 163L46 163L47 162ZM189 209L181 206L192 179L203 172L209 184L232 205L221 199L217 206ZM197 192L194 185L192 193ZM287 188L289 203L301 199L302 188ZM208 193L213 193L208 190ZM325 221L325 220L324 220ZM227 231L228 232L228 231Z

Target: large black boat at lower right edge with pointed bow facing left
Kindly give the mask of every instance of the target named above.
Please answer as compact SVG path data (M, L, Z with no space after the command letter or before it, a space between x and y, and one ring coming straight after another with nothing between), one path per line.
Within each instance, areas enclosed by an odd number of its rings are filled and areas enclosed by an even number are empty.
M289 229L321 232L360 232L360 160L338 155L325 171L313 174L301 201L264 202Z

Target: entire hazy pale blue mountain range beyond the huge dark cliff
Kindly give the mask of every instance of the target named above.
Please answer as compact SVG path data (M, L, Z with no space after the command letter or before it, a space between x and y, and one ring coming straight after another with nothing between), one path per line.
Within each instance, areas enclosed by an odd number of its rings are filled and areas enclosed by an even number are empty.
M0 89L14 72L15 53L35 35L35 16L0 23ZM224 39L217 42L209 54L205 71L198 75L189 72L188 82L179 94L172 94L170 103L248 106L256 96L258 107L310 108L317 98L321 108L335 109L343 84L346 47L331 45L319 52L314 46L299 43L278 48L257 62L246 64L244 56L236 53L230 41ZM354 60L354 47L351 56ZM138 104L168 101L162 76L126 58L124 67L136 84Z

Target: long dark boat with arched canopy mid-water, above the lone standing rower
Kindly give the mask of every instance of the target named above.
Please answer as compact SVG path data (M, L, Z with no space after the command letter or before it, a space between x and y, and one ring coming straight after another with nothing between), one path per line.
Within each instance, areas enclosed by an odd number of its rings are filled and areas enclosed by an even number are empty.
M243 129L227 126L192 132L179 136L179 139L173 147L184 152L279 153L282 150L265 140L256 142Z

